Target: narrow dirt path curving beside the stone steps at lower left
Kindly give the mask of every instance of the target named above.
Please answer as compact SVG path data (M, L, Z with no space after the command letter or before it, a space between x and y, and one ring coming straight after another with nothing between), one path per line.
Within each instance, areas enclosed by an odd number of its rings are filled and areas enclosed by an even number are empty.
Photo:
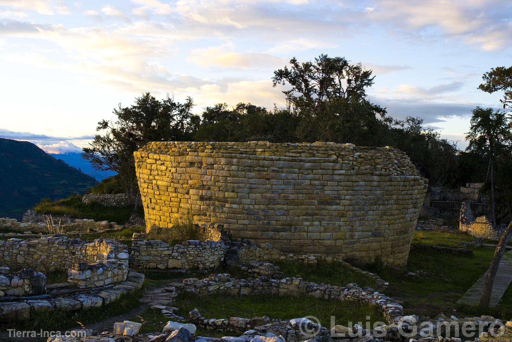
M144 294L142 298L140 298L140 305L133 308L132 310L120 315L120 316L111 316L109 318L99 320L93 324L86 325L87 329L92 329L95 334L99 334L103 331L112 331L114 323L122 322L123 320L131 320L135 316L139 316L144 311L149 309L153 305L165 305L172 296L169 292L165 291L165 289L169 286L170 283L181 283L183 278L177 279L168 279L162 280L158 283L157 286L148 286L144 290ZM66 331L81 329L80 326L70 327L66 329L60 330L60 333L63 334ZM0 341L8 341L8 342L46 342L48 337L31 337L30 335L16 337L13 335L13 332L9 331L0 331ZM28 334L28 332L26 333Z

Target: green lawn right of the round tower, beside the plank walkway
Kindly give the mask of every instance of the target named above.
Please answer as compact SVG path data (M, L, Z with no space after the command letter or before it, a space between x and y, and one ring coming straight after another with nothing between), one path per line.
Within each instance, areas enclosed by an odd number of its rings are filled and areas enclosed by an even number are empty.
M473 237L463 233L415 232L413 245L460 247L457 242L471 242ZM512 289L507 289L495 309L480 309L457 305L456 301L487 271L494 247L474 247L473 256L442 254L436 251L409 253L403 270L386 266L380 261L367 264L367 271L378 274L389 282L389 295L403 301L404 313L424 316L455 314L458 317L489 314L496 318L512 318ZM410 272L429 272L420 277L406 276ZM457 310L455 313L454 309Z

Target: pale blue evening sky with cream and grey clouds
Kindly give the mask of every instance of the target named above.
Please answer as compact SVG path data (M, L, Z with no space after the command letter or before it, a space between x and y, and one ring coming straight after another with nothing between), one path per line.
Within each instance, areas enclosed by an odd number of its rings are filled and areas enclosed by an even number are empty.
M512 64L501 0L0 0L0 137L80 152L151 92L206 106L285 106L273 71L325 53L373 70L369 99L463 149L482 74Z

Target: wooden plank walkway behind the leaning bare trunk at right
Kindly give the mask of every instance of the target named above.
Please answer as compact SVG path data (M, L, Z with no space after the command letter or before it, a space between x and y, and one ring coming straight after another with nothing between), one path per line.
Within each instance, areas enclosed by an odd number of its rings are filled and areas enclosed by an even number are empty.
M487 277L487 272L482 275L480 279L471 287L471 289L467 290L466 293L460 298L457 303L464 303L468 305L479 305L480 297L482 296L483 284L485 282L485 277ZM512 281L512 250L507 252L501 258L500 266L498 267L498 272L496 273L496 277L494 278L493 284L493 292L490 295L490 303L489 306L494 308L500 303L501 297L508 285Z

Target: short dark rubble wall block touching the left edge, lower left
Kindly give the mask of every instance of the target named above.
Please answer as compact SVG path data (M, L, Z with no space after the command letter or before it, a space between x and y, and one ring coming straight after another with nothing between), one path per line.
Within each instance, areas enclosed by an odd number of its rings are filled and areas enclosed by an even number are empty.
M0 297L32 296L46 293L46 276L38 271L23 269L11 272L0 267Z

